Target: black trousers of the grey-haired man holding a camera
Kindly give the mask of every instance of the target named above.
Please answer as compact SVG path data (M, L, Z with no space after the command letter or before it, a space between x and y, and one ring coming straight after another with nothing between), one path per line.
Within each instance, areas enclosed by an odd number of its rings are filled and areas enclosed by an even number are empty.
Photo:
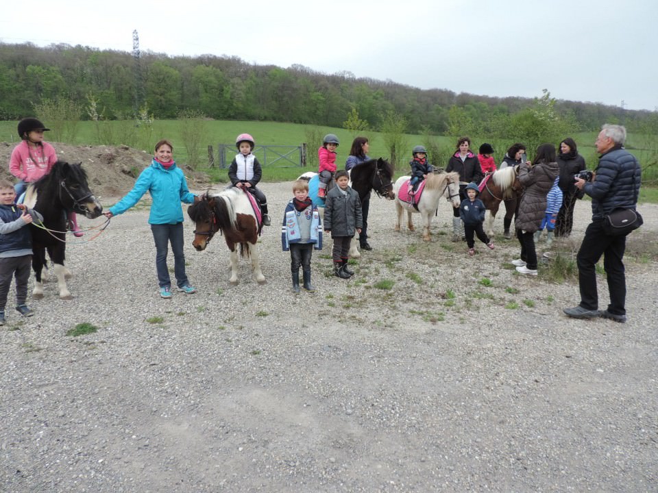
M603 268L607 275L610 304L608 312L626 314L626 275L624 252L626 236L608 236L603 231L603 220L595 220L585 230L585 238L576 255L578 286L581 290L581 307L598 309L596 290L596 263L603 255Z

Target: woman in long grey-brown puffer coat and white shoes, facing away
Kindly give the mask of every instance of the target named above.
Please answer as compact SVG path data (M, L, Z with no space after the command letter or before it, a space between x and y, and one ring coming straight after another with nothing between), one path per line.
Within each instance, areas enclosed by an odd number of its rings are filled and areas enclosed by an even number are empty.
M521 258L512 264L522 274L537 275L537 251L533 234L546 214L546 195L553 186L559 167L555 160L555 146L537 147L534 162L527 161L519 169L519 181L524 186L514 224L521 244Z

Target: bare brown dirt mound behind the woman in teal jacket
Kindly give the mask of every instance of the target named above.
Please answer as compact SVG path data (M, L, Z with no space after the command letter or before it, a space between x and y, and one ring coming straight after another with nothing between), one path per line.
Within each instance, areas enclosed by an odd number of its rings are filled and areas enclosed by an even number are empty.
M73 146L51 142L60 160L82 163L89 178L89 186L99 197L120 197L130 190L136 177L151 163L151 155L125 145ZM0 142L0 177L16 179L9 173L9 160L16 143ZM205 177L193 173L186 166L182 170L190 181L190 187L202 184Z

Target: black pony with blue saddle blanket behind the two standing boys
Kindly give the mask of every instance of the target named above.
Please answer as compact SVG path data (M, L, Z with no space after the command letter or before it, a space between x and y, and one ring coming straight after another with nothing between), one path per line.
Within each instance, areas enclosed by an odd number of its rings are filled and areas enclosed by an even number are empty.
M386 199L395 199L393 192L393 165L387 160L379 159L369 160L357 164L350 170L350 186L358 193L358 198L363 199L371 190L379 197ZM308 172L300 176L300 179L308 180L308 197L317 207L324 207L324 199L317 196L317 185L319 176L317 173ZM352 242L350 246L350 257L361 257L361 253L356 249L356 243Z

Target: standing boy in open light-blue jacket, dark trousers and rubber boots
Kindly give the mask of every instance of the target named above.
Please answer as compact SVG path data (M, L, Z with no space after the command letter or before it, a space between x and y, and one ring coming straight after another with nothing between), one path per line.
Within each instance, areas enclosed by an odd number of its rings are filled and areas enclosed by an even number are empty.
M293 183L295 197L286 206L281 228L283 251L290 251L290 270L293 292L300 292L300 266L304 276L304 290L315 292L310 283L310 257L313 249L322 249L322 224L317 207L308 198L308 181L299 179Z

